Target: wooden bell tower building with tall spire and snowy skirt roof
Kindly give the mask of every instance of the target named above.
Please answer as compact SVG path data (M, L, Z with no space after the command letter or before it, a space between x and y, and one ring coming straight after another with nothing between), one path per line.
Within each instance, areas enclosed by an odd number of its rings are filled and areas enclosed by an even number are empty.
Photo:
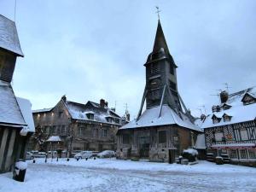
M169 52L160 20L153 51L144 66L143 101L137 119L119 128L117 156L172 163L183 149L195 144L201 130L194 125L194 118L179 96L177 65Z

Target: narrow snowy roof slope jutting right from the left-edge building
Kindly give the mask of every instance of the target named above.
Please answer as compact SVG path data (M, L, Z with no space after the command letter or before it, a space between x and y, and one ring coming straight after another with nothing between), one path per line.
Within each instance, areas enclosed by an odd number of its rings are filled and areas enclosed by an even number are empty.
M25 119L26 122L26 127L24 127L21 132L26 134L27 132L35 132L35 125L34 125L34 120L32 117L32 104L30 101L24 98L16 97L17 102L20 106L21 113L23 115L23 118Z

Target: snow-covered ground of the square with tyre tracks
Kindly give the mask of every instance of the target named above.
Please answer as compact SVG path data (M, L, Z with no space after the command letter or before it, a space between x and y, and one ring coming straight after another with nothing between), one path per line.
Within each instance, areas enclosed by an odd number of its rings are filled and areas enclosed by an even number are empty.
M28 161L24 183L0 175L2 192L82 191L256 191L256 169L199 161L182 166L145 161L96 159Z

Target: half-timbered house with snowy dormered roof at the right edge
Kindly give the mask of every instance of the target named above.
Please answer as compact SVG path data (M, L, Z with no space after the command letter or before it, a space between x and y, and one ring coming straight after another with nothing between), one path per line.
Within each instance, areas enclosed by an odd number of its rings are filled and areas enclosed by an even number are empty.
M220 93L220 103L198 121L207 154L229 156L232 163L256 166L256 88Z

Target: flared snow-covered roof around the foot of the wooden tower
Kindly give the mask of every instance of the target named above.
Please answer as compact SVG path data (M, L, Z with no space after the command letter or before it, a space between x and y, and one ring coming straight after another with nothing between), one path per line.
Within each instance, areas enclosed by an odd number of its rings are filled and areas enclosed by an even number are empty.
M130 123L119 128L119 130L159 125L179 125L191 130L201 131L201 129L197 125L194 125L185 114L180 113L179 115L168 105L162 106L161 113L160 107L149 108L143 112L137 121L132 120Z

